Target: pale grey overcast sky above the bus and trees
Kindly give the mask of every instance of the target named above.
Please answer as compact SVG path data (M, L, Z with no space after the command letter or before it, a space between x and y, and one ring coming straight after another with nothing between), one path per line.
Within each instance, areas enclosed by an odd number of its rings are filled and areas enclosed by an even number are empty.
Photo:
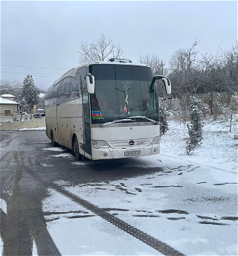
M200 54L216 54L236 44L237 1L1 1L1 80L22 83L32 74L48 89L79 65L82 40L100 33L135 63L140 54L169 63L195 39Z

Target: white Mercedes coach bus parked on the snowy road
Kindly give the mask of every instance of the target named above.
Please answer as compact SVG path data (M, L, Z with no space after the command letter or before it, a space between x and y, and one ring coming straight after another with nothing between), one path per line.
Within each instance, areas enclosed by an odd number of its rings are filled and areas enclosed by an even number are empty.
M45 94L46 135L77 160L123 159L160 152L158 91L170 80L149 65L110 59L71 68Z

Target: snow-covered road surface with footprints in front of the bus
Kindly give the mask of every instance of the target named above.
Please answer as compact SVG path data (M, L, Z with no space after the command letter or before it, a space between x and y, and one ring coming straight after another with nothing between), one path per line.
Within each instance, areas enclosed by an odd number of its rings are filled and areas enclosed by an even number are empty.
M57 185L184 255L237 255L236 174L171 161L167 156L137 159L125 167L154 168L155 172L114 182L68 186L58 181ZM63 255L74 255L79 248L82 255L158 255L143 243L137 245L128 234L109 228L109 223L86 208L74 202L72 205L57 191L49 192L43 210L51 212L48 230ZM55 214L59 211L67 214ZM69 223L71 228L67 228ZM79 248L75 248L75 237L80 241ZM65 244L71 244L73 250Z

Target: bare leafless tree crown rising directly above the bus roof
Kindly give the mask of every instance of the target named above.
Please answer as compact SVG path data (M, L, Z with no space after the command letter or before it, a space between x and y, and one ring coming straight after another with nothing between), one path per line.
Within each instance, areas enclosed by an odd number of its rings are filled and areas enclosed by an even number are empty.
M116 45L112 38L101 33L100 38L95 42L81 42L79 63L109 60L111 57L120 58L123 48L120 43Z

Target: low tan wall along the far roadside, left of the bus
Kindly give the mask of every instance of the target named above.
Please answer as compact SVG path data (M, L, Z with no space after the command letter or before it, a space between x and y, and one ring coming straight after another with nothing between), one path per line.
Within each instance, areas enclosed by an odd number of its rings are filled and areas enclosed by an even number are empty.
M43 118L33 118L31 120L25 121L9 121L0 124L1 129L30 129L30 128L38 128L45 127L45 117Z

